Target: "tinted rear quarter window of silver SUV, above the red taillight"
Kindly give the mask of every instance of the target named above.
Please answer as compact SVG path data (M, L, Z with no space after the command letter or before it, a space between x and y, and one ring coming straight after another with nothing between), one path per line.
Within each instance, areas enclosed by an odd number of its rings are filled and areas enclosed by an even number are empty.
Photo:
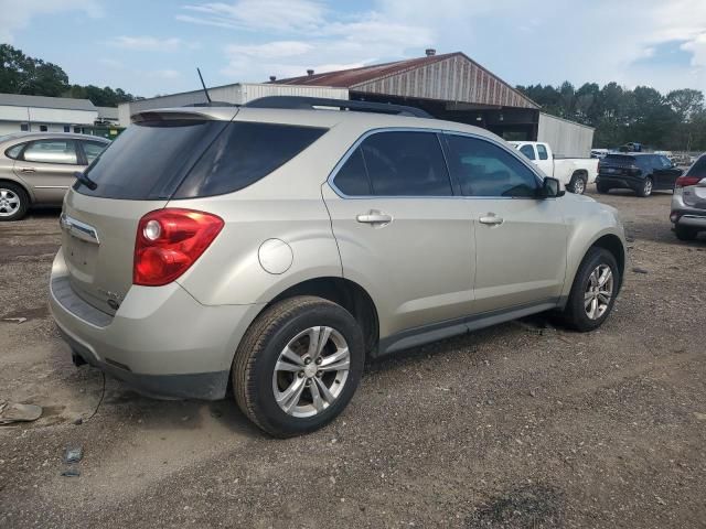
M248 121L228 123L174 197L222 195L247 187L290 161L327 130Z

